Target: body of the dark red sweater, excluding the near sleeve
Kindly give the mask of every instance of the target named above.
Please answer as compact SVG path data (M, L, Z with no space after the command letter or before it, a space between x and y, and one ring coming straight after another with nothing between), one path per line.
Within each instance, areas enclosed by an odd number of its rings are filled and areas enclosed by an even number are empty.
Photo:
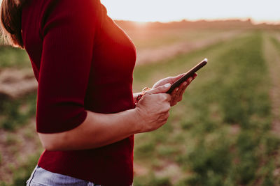
M40 77L44 40L41 29L45 19L48 19L46 15L51 13L56 1L30 0L22 11L22 36L37 80ZM104 114L133 109L132 72L136 60L135 47L124 31L106 15L106 8L99 0L76 0L74 3L84 3L87 6L88 1L94 1L92 11L98 12L99 28L94 33L93 55L84 98L85 109ZM62 2L68 3L65 0ZM67 6L62 11L67 11ZM80 53L83 55L83 51ZM134 137L131 136L102 148L44 151L38 165L48 171L97 184L131 185L133 145Z

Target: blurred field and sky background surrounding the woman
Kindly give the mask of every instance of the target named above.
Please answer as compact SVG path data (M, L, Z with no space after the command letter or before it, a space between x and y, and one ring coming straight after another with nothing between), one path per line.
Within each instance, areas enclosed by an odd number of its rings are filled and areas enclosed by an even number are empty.
M134 185L280 185L280 2L102 3L137 47L134 92L209 59L168 123L136 135ZM0 185L25 185L43 152L36 88L1 41Z

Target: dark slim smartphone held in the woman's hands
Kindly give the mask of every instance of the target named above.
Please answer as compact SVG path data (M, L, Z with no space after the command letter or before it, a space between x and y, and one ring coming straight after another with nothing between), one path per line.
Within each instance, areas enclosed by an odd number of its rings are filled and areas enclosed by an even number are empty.
M207 62L208 62L208 59L204 59L203 61L201 61L200 63L195 65L192 69L188 70L188 72L186 72L186 75L183 75L183 77L181 77L176 82L174 82L174 84L172 84L172 86L169 88L169 90L166 93L169 93L169 94L172 93L172 91L174 91L175 88L180 86L180 84L185 82L189 77L192 77L193 74L195 74L195 72L197 72L197 70L200 70L200 68L202 68L204 65L206 65Z

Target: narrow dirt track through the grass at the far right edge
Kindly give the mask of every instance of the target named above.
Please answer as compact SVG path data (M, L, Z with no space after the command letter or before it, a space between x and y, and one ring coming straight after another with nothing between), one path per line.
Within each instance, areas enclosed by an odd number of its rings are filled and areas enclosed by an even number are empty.
M269 40L269 36L265 36L264 52L272 79L272 88L269 92L272 100L272 131L280 134L280 54Z

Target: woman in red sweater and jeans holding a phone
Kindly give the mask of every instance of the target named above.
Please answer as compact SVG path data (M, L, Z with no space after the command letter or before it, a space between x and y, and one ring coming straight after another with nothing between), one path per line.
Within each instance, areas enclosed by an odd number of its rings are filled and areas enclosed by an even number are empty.
M171 95L181 75L160 80L135 106L135 47L99 0L3 0L1 24L38 81L45 151L27 185L132 185L134 134L164 125L196 75Z

